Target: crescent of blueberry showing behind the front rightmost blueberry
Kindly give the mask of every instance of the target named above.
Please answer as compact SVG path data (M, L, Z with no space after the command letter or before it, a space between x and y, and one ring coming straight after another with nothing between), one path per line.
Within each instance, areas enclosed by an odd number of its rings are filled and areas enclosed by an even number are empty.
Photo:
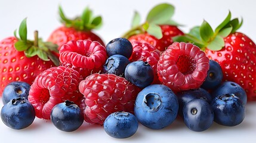
M238 83L229 81L223 82L211 93L213 98L224 94L235 94L236 97L239 97L240 100L242 100L243 104L246 104L247 102L246 92Z

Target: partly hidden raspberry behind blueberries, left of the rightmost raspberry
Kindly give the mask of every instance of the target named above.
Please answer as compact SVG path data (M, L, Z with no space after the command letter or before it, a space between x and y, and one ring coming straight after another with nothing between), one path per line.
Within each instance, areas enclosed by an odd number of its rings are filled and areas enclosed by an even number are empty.
M159 57L160 51L158 51L158 49L156 49L155 46L151 45L150 43L139 41L132 42L132 55L129 58L129 61L147 61L147 63L149 63L154 70L154 80L152 84L160 83L158 79L158 70L156 68Z

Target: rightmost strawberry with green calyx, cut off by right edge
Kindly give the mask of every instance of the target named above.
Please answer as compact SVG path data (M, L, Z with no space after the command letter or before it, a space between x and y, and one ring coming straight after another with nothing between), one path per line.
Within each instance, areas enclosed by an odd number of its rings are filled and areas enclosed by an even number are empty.
M223 71L223 80L238 83L246 91L248 101L256 101L256 46L243 33L236 32L242 22L231 20L231 13L215 29L206 21L194 27L189 34L175 38L190 41L205 49L206 55L217 61Z

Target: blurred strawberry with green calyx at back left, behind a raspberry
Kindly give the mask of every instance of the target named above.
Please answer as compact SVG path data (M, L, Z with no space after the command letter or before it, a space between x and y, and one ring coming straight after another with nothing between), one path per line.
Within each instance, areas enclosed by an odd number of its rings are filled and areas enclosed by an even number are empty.
M81 17L70 20L66 18L61 7L58 10L63 26L55 29L48 38L48 41L56 43L59 48L70 40L77 41L84 39L98 41L104 46L102 39L92 32L92 29L100 28L102 24L102 18L100 16L92 17L92 11L86 8Z

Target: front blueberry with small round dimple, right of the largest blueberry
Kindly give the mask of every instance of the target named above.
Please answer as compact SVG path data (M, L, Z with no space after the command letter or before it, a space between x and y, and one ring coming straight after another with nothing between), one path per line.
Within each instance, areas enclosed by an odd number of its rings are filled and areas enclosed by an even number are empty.
M210 128L214 122L214 111L205 100L195 99L184 106L183 120L190 130L202 132Z

